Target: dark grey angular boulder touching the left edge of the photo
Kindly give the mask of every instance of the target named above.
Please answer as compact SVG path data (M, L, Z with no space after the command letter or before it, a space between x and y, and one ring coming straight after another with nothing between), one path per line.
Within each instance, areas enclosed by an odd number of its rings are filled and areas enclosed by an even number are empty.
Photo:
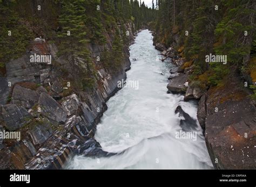
M26 123L28 117L30 117L30 114L24 107L18 107L14 104L2 106L4 126L8 130L12 131L21 128Z

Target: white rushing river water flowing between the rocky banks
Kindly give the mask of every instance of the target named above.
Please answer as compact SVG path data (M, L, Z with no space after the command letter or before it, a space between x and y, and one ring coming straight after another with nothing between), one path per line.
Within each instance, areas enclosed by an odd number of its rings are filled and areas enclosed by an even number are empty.
M123 154L89 158L75 156L69 169L211 169L204 136L197 121L197 136L177 138L178 105L197 119L195 102L183 95L167 94L170 62L161 62L149 30L138 34L130 46L131 70L126 86L107 101L108 109L97 126L95 138L103 150ZM136 61L132 59L136 58ZM138 84L138 85L137 85ZM138 86L138 87L137 87Z

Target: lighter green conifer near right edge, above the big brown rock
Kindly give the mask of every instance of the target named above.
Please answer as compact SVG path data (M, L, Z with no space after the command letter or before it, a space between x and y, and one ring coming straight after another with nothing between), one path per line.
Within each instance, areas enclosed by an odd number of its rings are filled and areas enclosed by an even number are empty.
M214 51L217 54L228 54L228 63L238 64L250 53L251 45L246 42L244 32L252 35L253 26L241 18L248 18L252 11L245 9L243 5L227 10L227 15L216 26L215 36L223 42Z

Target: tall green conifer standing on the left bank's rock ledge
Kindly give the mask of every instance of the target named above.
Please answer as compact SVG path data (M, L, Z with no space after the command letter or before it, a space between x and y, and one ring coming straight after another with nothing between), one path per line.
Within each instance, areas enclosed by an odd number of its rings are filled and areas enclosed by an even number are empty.
M95 67L87 49L90 40L86 39L84 1L64 0L62 6L62 13L59 16L62 32L58 33L61 40L58 55L66 57L77 86L82 89L91 88L95 82Z

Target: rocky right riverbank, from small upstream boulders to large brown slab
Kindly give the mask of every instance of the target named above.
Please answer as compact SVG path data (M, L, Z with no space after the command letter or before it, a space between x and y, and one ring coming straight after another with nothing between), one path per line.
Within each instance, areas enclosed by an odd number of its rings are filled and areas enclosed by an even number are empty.
M255 101L235 74L222 85L201 88L190 82L193 61L183 58L183 48L174 50L155 43L163 55L177 65L167 85L168 92L184 94L184 100L198 100L198 120L205 134L206 146L215 169L255 169Z

